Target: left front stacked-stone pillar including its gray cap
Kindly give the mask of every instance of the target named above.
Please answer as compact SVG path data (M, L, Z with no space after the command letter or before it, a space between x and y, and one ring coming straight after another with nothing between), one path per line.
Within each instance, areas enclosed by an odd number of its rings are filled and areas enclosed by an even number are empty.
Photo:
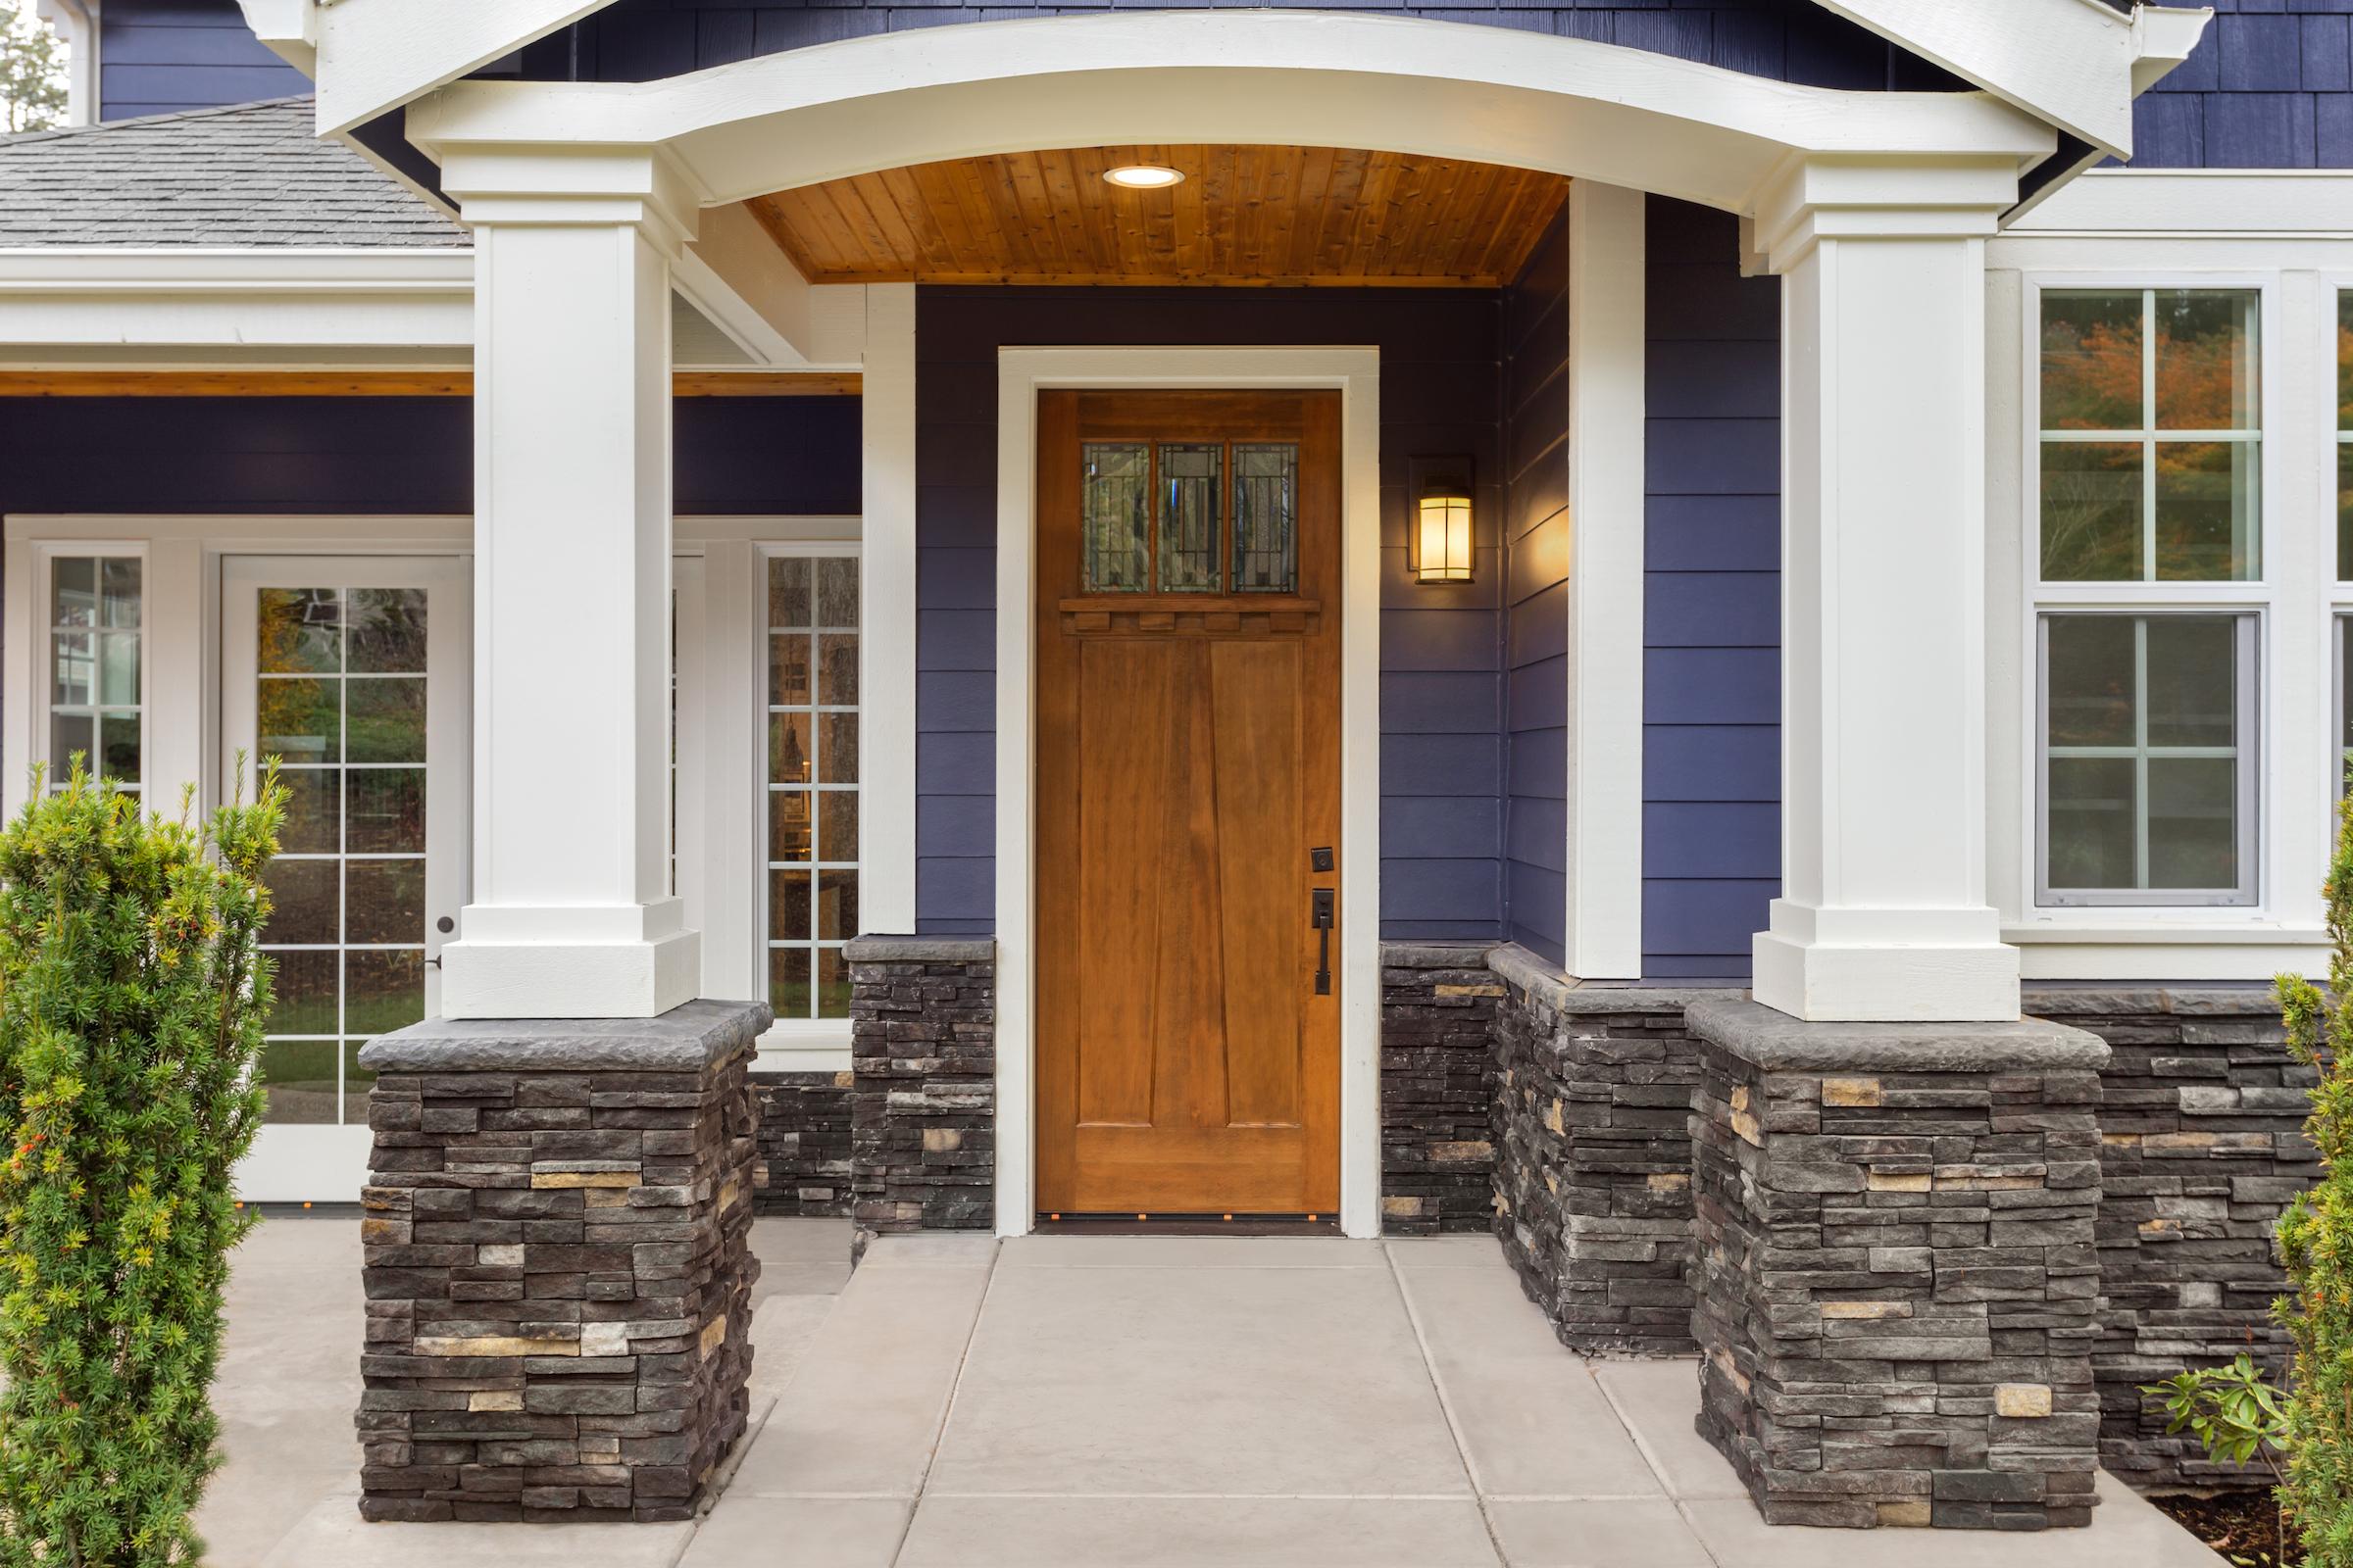
M689 1519L744 1434L765 1004L372 1041L367 1519Z

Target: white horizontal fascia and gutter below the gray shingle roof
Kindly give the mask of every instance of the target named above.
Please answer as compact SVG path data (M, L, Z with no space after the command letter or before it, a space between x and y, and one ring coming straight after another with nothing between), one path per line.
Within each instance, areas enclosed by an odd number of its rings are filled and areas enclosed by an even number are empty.
M473 346L473 252L0 249L0 343Z

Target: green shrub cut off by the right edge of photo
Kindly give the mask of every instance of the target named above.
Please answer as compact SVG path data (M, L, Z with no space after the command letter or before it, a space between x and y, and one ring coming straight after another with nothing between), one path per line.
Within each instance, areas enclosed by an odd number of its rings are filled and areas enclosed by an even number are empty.
M2287 1044L2311 1065L2304 1135L2320 1150L2320 1182L2280 1215L2292 1295L2273 1302L2294 1359L2287 1373L2287 1479L2280 1502L2306 1561L2353 1568L2353 790L2337 813L2329 905L2329 990L2280 976Z

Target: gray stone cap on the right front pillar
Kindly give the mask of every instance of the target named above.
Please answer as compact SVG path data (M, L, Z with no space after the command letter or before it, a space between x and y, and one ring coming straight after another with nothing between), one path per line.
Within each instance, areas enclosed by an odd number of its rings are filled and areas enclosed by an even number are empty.
M1692 1034L1765 1072L2097 1072L2108 1041L2042 1018L2017 1023L1807 1023L1746 997L1704 997Z

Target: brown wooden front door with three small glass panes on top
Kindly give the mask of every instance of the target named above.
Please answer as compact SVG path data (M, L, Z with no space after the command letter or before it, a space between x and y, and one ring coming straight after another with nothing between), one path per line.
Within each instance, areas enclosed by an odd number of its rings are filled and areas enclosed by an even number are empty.
M1040 393L1038 1206L1339 1206L1339 395Z

